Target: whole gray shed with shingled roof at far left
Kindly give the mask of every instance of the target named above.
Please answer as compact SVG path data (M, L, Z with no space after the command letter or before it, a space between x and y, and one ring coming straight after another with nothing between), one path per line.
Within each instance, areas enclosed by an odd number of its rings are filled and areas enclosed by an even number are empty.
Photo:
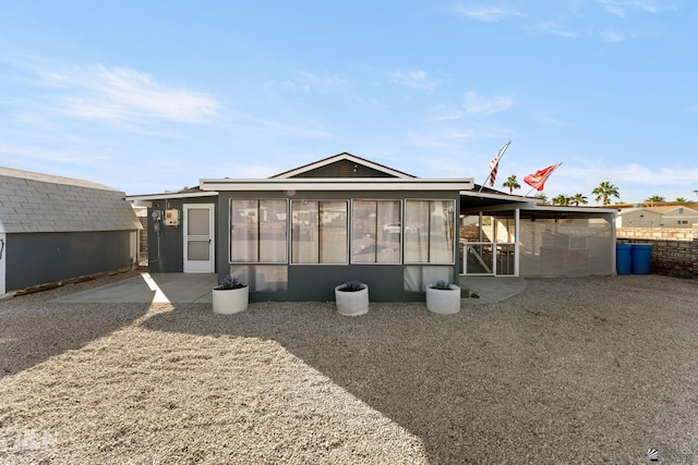
M131 267L140 229L122 192L0 167L0 294Z

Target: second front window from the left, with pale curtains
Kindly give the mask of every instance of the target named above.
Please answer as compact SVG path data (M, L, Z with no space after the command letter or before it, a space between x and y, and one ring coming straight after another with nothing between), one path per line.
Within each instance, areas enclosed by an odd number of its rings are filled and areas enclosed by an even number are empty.
M291 262L347 262L346 200L291 200Z

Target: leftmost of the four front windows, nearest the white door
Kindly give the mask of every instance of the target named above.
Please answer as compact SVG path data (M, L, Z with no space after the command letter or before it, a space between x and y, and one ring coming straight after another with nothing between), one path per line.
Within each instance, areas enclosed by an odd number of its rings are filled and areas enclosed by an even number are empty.
M286 200L230 200L230 262L287 262Z

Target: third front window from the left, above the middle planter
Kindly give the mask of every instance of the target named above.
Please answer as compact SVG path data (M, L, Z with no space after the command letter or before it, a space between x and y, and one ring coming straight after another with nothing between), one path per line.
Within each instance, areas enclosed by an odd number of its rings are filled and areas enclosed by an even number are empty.
M402 237L400 210L400 200L352 201L352 264L400 262Z

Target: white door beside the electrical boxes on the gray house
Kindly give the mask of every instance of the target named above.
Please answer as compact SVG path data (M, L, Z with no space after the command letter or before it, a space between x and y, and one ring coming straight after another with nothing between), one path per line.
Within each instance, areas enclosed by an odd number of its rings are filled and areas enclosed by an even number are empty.
M214 206L184 204L184 272L214 272Z

